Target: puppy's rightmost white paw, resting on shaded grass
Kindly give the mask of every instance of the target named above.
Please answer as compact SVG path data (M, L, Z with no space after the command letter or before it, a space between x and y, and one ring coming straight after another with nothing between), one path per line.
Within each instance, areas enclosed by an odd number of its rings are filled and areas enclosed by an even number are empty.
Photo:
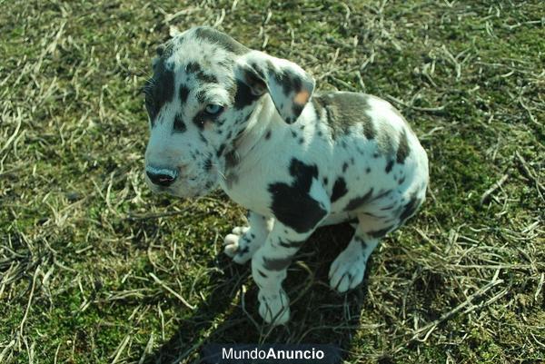
M366 261L362 254L352 254L352 251L342 251L329 272L330 287L339 292L352 290L362 283Z

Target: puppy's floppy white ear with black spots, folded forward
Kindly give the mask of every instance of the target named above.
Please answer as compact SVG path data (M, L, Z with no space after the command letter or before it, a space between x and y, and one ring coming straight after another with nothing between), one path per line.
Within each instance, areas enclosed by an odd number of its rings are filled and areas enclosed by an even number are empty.
M254 95L269 93L286 123L294 123L314 91L314 79L288 60L251 51L238 60L239 76Z

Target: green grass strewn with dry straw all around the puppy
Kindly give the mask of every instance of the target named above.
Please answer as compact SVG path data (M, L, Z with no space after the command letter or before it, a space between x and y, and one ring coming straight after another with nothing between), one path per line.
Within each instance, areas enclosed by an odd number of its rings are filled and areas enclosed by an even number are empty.
M278 4L281 3L281 4ZM545 360L545 8L528 1L0 1L0 362L195 362L207 342L335 343L346 362ZM400 108L431 162L424 208L327 286L316 231L264 326L223 256L243 210L152 195L143 97L168 27L214 25L322 90Z

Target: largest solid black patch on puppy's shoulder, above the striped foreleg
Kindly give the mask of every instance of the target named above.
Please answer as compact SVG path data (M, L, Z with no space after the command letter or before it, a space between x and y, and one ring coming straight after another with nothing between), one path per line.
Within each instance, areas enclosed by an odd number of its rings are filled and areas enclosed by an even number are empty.
M293 177L291 184L276 182L269 185L271 210L278 221L294 231L310 231L327 213L309 194L312 179L318 178L318 168L293 158L290 174Z

